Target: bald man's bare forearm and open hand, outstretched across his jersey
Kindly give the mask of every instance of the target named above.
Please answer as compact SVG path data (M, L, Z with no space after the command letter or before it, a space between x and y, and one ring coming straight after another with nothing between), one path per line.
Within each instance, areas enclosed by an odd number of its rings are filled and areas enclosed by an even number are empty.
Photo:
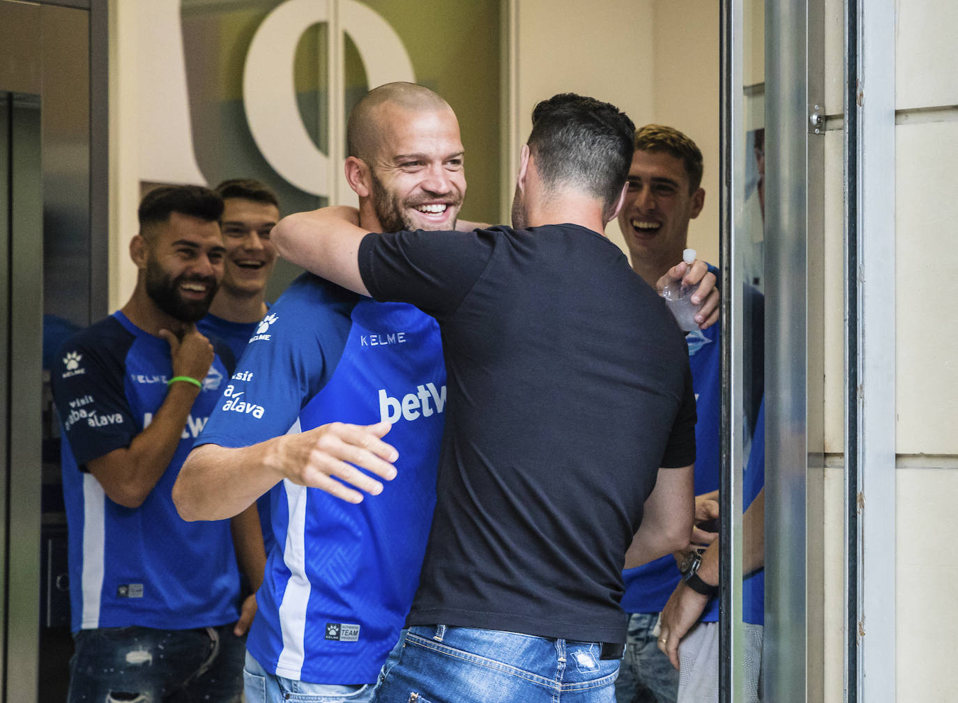
M376 495L382 484L356 466L386 481L395 478L392 462L399 453L380 439L391 426L389 422L332 422L251 446L202 444L190 452L180 469L173 485L173 503L184 520L221 520L246 510L286 478L359 503L362 493L341 481Z

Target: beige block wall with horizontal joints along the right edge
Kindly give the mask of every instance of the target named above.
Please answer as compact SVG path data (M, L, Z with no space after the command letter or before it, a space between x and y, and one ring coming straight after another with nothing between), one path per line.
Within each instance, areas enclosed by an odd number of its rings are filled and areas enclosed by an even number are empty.
M941 262L958 252L958 4L896 9L898 699L958 701L949 656L958 555L948 538L958 496L958 326L954 306L932 303Z

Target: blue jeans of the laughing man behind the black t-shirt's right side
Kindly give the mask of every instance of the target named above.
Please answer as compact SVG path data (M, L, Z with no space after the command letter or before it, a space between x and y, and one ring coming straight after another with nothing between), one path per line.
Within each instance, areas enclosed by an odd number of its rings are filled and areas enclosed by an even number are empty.
M618 703L675 703L678 671L658 648L653 634L657 622L658 613L628 616L626 653L615 682Z

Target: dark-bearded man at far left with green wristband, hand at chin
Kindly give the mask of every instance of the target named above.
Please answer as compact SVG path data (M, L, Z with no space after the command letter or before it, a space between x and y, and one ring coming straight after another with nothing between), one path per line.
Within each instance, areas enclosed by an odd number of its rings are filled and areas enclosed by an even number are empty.
M68 340L51 371L64 439L71 703L239 701L231 525L184 522L170 497L232 373L232 353L194 327L223 273L222 207L195 186L148 193L129 246L133 295ZM255 511L233 522L240 534L259 527Z

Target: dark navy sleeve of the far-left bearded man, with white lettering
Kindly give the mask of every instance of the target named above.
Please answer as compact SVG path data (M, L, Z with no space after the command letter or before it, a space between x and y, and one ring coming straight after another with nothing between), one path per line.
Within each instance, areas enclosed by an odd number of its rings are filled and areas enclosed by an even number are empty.
M126 398L126 348L112 342L74 338L57 353L50 372L64 435L84 471L87 462L129 446L142 431Z

